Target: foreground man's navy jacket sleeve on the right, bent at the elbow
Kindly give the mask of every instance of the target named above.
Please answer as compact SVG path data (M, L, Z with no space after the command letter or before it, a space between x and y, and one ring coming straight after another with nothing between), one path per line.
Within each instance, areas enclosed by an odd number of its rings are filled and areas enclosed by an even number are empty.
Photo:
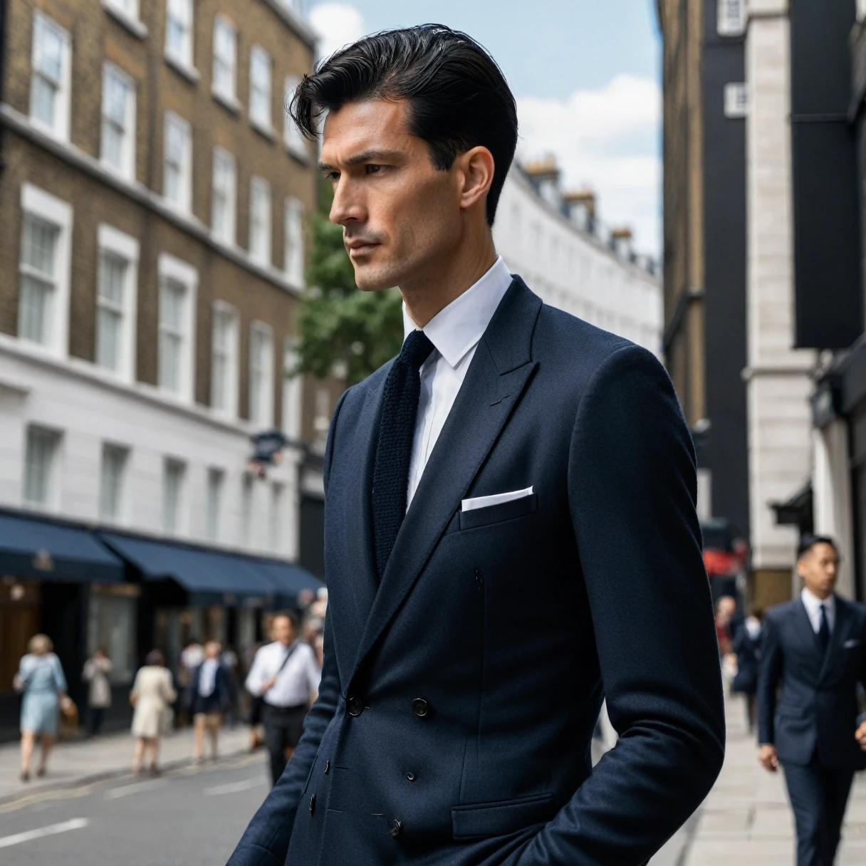
M701 804L725 742L695 451L650 352L626 346L593 373L572 433L568 488L619 739L517 863L637 866Z

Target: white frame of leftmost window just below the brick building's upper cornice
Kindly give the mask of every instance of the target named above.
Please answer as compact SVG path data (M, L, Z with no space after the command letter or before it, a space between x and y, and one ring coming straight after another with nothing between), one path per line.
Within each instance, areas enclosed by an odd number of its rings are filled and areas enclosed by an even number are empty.
M58 229L55 275L55 294L51 301L51 310L48 322L48 339L45 343L35 343L28 340L32 346L42 346L55 358L66 358L69 344L69 280L72 255L72 205L52 196L51 193L39 189L33 184L22 184L21 186L21 210L22 217L25 214L36 217L46 223L55 225ZM22 219L22 243L23 243L23 219ZM21 256L23 249L19 250L18 269L19 273L28 270L23 265ZM39 274L42 278L44 275ZM19 307L20 286L19 279ZM21 333L21 313L18 314L18 333Z

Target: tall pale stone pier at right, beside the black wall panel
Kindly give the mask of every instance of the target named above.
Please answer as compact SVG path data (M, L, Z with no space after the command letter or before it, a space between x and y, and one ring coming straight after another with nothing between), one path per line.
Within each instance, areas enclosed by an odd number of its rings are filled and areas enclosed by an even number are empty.
M797 530L776 524L811 475L816 356L793 344L790 21L787 0L750 0L746 29L746 379L755 571L791 569Z

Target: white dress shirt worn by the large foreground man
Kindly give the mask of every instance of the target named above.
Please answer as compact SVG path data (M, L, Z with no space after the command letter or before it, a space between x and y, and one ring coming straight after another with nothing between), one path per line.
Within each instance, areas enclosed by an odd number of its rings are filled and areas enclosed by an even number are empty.
M512 276L501 256L479 281L456 297L422 328L433 352L421 365L421 395L415 420L415 439L409 464L406 507L421 481L424 467L448 419L457 391L475 356L478 341L487 330L496 307L511 285ZM403 307L404 339L417 329Z

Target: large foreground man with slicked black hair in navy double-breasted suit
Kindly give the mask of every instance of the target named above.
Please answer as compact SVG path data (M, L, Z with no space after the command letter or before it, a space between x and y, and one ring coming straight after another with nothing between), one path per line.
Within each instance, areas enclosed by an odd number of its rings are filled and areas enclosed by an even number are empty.
M334 411L320 695L229 863L646 863L725 736L670 380L496 254L517 116L469 36L362 39L292 113L310 136L326 113L331 219L406 336Z

